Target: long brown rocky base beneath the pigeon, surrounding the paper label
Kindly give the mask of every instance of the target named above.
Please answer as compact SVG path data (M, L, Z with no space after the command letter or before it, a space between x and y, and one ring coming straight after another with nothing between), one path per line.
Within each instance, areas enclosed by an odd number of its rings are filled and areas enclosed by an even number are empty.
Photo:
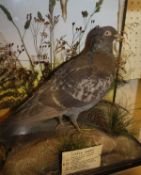
M68 130L67 130L68 131ZM58 175L63 151L103 145L101 166L113 165L141 156L140 144L126 136L109 136L98 129L59 133L15 146L3 168L4 175Z

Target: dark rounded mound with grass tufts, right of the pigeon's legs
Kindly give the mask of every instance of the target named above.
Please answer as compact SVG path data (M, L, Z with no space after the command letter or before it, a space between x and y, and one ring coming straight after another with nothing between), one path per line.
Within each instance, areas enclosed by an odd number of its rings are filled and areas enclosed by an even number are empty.
M101 101L82 114L81 119L89 127L98 128L113 136L130 135L132 132L130 131L132 120L129 112L122 106L110 101Z

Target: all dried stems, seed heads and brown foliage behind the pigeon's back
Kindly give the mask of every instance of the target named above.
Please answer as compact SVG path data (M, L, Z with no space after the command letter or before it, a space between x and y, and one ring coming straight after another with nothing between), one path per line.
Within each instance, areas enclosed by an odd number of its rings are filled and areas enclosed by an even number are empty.
M94 24L93 15L99 12L102 6L101 0L94 5L92 14L87 10L81 12L85 21L84 26L72 23L72 41L67 41L66 36L54 39L54 29L60 21L60 15L54 15L54 9L58 3L56 0L49 1L49 11L46 15L37 11L36 16L32 13L26 15L24 32L21 33L10 11L0 4L0 9L6 15L9 22L17 30L21 39L21 45L9 43L0 48L0 106L1 108L14 107L31 95L36 86L42 83L50 74L52 68L58 66L81 51L81 41L89 25ZM36 55L32 59L25 44L26 32L31 32ZM21 54L26 53L31 70L23 67ZM60 55L62 61L57 61ZM20 59L19 59L20 58ZM36 67L39 65L38 73ZM39 74L41 78L39 79Z

